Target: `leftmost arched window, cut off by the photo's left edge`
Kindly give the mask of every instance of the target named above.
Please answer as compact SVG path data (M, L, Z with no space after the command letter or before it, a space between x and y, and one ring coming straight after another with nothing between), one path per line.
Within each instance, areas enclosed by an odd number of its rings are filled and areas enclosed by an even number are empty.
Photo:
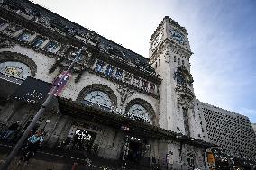
M26 79L31 76L31 69L27 65L17 61L6 61L0 63L0 73L6 76Z

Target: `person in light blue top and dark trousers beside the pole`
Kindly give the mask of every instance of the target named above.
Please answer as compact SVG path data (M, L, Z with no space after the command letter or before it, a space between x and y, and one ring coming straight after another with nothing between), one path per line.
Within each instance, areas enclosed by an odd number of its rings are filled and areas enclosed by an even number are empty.
M28 144L23 148L22 157L20 157L19 165L23 162L28 163L30 158L35 155L37 149L43 141L44 130L39 130L36 134L28 138Z

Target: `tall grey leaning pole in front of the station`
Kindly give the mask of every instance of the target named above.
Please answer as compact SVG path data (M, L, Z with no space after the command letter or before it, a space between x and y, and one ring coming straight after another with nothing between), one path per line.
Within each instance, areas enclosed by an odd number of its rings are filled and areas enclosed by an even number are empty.
M84 41L84 45L81 49L78 50L78 54L76 56L76 58L73 59L71 65L69 66L69 68L67 69L67 71L65 71L64 75L61 76L59 82L61 83L61 81L65 78L65 76L67 76L67 74L69 73L70 69L72 67L74 67L78 57L81 55L82 49L86 48L86 41ZM49 103L51 102L54 94L57 92L59 87L58 85L53 85L53 88L51 88L50 90L50 94L48 95L48 97L46 98L46 100L44 101L44 103L41 104L41 108L40 110L35 114L35 116L32 119L32 122L30 123L30 125L28 126L28 128L24 131L23 136L21 139L19 139L19 141L16 143L16 145L14 146L14 149L12 150L12 152L9 154L9 156L6 158L5 163L3 164L3 166L1 167L0 170L7 170L8 166L10 165L11 161L14 159L15 155L17 155L18 151L20 150L20 148L22 148L23 143L25 141L25 139L27 139L30 131L32 130L32 128L34 127L34 125L36 124L36 122L40 119L42 113L45 111L45 109L47 108L47 106L49 105Z

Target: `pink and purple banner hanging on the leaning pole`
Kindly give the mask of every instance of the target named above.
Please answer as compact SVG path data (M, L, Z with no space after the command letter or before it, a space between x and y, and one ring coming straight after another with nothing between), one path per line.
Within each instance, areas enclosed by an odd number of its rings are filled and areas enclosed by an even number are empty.
M59 85L57 92L54 94L55 96L59 96L61 94L71 77L71 74L67 73L66 76L61 80L61 77L64 76L65 73L66 71L63 71L53 82L53 85Z

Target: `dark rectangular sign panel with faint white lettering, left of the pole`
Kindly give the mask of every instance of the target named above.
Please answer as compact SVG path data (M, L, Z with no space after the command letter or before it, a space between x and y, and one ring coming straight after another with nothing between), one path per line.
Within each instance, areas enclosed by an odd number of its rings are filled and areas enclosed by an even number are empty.
M32 77L27 77L15 90L11 98L25 103L42 104L51 89L51 84Z

